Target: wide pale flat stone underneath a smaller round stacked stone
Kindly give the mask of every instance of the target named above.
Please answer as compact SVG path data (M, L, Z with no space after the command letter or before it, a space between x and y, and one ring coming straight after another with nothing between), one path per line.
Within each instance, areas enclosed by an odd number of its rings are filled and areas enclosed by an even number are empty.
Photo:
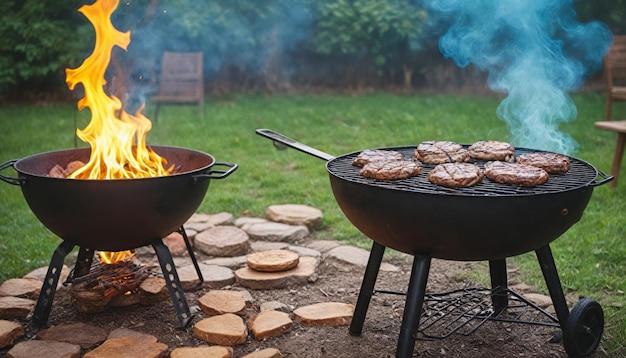
M268 290L302 286L317 280L317 260L313 257L301 257L295 268L283 272L258 272L249 267L235 271L237 282L253 290Z

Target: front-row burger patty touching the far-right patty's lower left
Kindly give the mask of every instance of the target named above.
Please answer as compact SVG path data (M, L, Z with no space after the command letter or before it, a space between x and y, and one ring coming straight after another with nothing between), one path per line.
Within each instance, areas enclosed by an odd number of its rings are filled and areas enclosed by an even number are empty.
M548 172L532 165L508 162L485 163L485 176L490 180L519 186L537 186L548 180Z

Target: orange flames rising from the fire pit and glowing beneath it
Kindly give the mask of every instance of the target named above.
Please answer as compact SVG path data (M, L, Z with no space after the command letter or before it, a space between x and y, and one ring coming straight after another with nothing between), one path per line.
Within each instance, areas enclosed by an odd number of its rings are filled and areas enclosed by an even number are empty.
M118 0L98 0L78 11L93 24L96 43L93 53L76 69L66 69L70 90L82 83L85 95L78 109L88 107L91 121L78 137L91 146L89 162L72 173L74 179L132 179L164 176L171 173L167 161L146 146L146 134L152 123L141 114L143 106L131 115L122 109L122 102L104 91L105 71L114 46L124 50L130 43L130 31L120 32L111 23L111 14ZM131 251L99 252L101 261L114 263L133 255Z

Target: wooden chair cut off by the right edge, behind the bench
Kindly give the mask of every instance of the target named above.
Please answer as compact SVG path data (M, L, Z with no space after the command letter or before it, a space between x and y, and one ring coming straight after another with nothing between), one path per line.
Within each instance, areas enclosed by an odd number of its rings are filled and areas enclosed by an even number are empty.
M604 57L604 79L607 89L604 120L610 121L613 102L626 101L626 35L613 37L613 46Z

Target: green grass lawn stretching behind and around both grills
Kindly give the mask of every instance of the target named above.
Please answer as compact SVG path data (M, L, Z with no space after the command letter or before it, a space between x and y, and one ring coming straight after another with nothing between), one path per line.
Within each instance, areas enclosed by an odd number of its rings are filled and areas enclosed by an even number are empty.
M616 137L593 126L604 116L604 97L579 94L574 100L578 118L562 126L580 144L574 156L608 172ZM263 216L271 204L311 205L325 215L319 238L369 248L370 240L337 207L324 161L295 150L278 151L255 130L270 128L331 155L433 139L510 140L508 128L495 114L498 103L495 97L435 95L232 96L208 101L203 120L195 107L164 107L148 141L205 151L217 161L239 164L230 177L211 182L202 212ZM626 106L618 106L614 113L626 118ZM145 114L153 116L153 108L148 106ZM0 162L73 147L75 116L71 105L0 108ZM79 126L88 122L88 116L88 111L78 113ZM15 175L10 169L2 174ZM551 244L564 290L603 305L604 345L612 356L626 354L625 192L626 174L616 189L596 188L582 220ZM0 183L0 202L3 281L47 265L60 240L34 217L19 187ZM545 292L534 254L509 262L521 268L525 281Z

